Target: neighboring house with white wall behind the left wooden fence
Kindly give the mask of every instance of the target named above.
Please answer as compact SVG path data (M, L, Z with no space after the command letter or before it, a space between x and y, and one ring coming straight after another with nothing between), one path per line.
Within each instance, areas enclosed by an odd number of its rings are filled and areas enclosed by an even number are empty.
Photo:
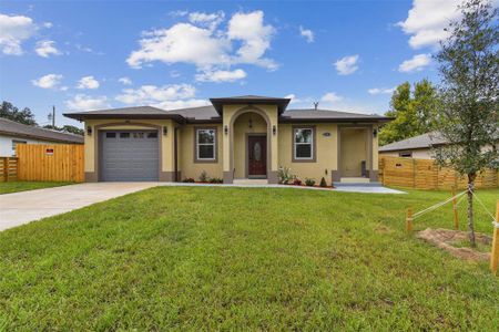
M83 144L83 136L29 126L0 117L0 156L14 156L18 144Z

